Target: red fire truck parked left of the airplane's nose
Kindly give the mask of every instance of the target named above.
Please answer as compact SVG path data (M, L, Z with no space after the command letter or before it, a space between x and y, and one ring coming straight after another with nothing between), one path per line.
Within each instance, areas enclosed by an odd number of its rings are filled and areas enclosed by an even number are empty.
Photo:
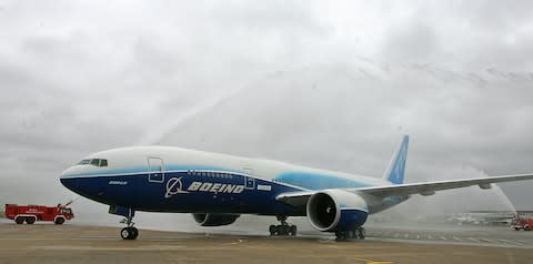
M74 217L72 209L67 205L57 206L46 205L17 205L6 204L4 215L7 219L14 220L17 224L33 224L36 221L53 221L54 224L62 224L66 220Z

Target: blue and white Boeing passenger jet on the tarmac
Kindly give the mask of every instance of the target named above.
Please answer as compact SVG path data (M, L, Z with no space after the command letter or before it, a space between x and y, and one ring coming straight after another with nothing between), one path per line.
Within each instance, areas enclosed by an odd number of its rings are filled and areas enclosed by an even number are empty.
M135 240L137 211L191 213L201 226L229 225L241 214L271 215L273 236L296 235L289 216L306 216L338 240L364 238L370 214L414 194L532 180L533 174L404 183L409 135L404 135L382 179L292 165L284 162L187 150L130 146L90 154L60 175L69 190L109 205L123 216L123 240Z

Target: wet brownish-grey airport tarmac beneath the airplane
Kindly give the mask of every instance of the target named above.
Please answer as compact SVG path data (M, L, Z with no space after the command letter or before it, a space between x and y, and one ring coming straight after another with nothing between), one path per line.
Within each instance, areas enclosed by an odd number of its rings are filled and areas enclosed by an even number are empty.
M364 241L330 235L140 230L122 241L120 229L0 223L0 263L531 263L533 232L509 227L435 231L368 229ZM444 237L444 238L443 238ZM454 238L455 237L455 238Z

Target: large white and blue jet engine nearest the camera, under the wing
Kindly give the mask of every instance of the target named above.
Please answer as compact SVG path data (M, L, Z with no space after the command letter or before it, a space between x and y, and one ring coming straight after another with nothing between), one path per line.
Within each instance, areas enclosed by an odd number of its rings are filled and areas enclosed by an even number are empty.
M325 190L308 201L308 220L319 231L356 229L366 222L369 206L363 197L342 190Z

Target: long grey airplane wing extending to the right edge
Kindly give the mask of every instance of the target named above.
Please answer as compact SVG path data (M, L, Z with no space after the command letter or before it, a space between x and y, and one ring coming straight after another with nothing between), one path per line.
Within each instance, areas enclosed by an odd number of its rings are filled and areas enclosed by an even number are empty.
M425 183L405 183L405 184L394 184L394 185L385 185L385 186L340 189L340 190L344 190L353 193L371 194L374 196L382 196L382 197L391 196L391 195L409 195L409 194L432 195L436 191L442 191L442 190L467 187L473 185L479 185L481 189L490 189L492 183L514 182L514 181L524 181L524 180L533 180L533 174L487 176L487 177L475 177L475 179L463 179L463 180L449 180L449 181L436 181L436 182L425 182ZM276 196L276 200L296 207L302 205L304 206L309 197L316 192L320 192L320 190L282 193Z

